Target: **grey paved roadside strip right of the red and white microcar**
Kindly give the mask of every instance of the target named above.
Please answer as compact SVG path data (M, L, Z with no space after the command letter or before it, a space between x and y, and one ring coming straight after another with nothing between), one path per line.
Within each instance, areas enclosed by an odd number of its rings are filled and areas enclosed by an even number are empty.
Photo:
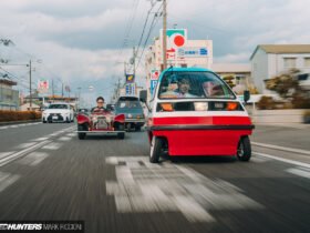
M251 141L310 151L310 124L256 124Z

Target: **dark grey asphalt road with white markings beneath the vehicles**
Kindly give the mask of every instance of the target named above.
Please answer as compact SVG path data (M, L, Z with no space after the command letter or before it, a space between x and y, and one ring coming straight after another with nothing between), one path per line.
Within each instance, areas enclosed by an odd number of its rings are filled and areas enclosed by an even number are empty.
M254 146L250 162L184 158L154 165L145 132L80 141L74 130L0 128L1 221L83 220L91 233L310 232L310 155L302 151ZM277 130L259 128L252 140L309 151Z

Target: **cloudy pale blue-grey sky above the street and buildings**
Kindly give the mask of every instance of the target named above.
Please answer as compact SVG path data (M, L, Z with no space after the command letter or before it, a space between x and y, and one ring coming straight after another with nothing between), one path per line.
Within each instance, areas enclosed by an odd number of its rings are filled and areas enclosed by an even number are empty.
M187 28L189 39L211 39L215 62L249 62L261 43L310 42L310 0L167 1L168 27ZM161 2L153 11L159 7ZM54 79L58 91L62 80L73 94L81 87L86 101L97 94L108 99L123 75L122 63L138 43L149 8L149 0L0 0L0 39L16 44L0 45L0 58L11 63L41 60L34 62L34 80ZM162 19L148 43L161 24ZM27 79L25 67L6 69Z

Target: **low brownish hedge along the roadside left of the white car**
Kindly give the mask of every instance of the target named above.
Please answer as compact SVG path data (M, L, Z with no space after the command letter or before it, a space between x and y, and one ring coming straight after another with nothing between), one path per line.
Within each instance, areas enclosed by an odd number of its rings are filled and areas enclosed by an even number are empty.
M41 119L41 112L35 111L0 110L0 122L38 120Z

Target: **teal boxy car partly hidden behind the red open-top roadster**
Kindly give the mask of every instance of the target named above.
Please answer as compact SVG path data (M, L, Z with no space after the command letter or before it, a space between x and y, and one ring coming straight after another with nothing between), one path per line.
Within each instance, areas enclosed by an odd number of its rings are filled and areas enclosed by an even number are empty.
M125 114L125 129L141 131L145 124L145 115L140 99L136 97L121 97L115 104L115 114Z

